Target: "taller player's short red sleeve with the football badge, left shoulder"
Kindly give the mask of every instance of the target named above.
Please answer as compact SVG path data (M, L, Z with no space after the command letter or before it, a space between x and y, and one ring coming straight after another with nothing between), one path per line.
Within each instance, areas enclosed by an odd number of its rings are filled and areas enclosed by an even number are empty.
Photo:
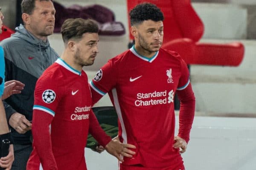
M95 75L90 82L90 87L104 96L116 85L118 71L113 59L109 60Z

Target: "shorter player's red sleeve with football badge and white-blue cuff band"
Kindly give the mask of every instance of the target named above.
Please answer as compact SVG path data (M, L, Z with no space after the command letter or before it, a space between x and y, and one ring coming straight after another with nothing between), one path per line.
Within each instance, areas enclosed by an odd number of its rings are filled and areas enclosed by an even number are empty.
M64 87L52 75L40 77L35 86L33 110L41 110L55 116L56 108L63 94Z

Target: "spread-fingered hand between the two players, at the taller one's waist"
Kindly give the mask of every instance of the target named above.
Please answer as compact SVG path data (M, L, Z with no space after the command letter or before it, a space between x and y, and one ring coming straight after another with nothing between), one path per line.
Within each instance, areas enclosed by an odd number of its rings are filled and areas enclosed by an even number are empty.
M132 158L132 156L135 154L134 151L130 150L136 149L136 146L132 144L122 144L117 139L112 139L105 147L108 153L115 156L119 161L124 161L122 156Z

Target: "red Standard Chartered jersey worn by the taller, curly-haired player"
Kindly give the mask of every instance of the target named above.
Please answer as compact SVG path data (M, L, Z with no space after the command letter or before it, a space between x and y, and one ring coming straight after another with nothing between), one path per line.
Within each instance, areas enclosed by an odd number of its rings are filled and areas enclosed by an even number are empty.
M181 57L160 48L152 58L136 49L110 59L90 82L93 103L109 93L119 116L123 143L136 145L136 155L122 164L166 167L181 163L173 148L174 95L189 85L189 71ZM101 95L101 96L99 96ZM192 123L191 123L192 124Z

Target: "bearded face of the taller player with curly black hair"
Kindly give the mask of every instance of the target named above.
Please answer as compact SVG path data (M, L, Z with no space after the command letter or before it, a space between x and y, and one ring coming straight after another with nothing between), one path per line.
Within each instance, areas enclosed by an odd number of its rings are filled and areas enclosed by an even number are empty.
M159 51L163 42L163 21L145 20L136 28L141 48L148 52Z

